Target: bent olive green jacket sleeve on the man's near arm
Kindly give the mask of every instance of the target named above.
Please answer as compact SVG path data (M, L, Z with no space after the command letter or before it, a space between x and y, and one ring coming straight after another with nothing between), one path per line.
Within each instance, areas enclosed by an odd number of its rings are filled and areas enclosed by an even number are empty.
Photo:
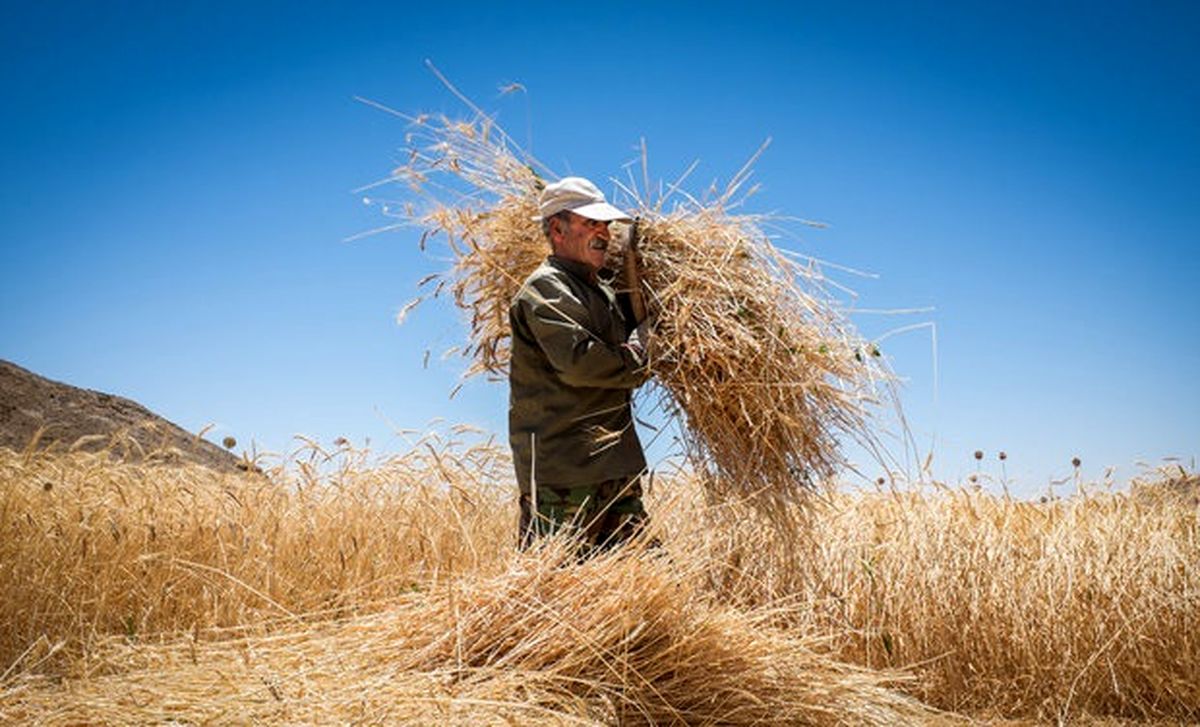
M518 305L529 332L564 383L635 389L649 378L646 362L628 346L608 343L596 334L587 306L553 278L529 281Z

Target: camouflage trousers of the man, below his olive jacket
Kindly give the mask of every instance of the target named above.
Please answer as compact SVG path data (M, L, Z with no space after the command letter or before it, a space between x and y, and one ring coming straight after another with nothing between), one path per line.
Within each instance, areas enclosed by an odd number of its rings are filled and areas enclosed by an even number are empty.
M568 530L582 541L584 554L618 546L646 525L641 476L595 485L538 485L538 512L521 493L521 547L544 535Z

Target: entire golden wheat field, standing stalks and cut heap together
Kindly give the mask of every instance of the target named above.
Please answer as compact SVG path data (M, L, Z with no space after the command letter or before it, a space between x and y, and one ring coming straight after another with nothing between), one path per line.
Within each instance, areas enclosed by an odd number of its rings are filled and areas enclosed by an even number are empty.
M515 552L500 453L427 444L268 476L0 450L0 721L1200 717L1175 499L844 494L785 539L659 479L664 547L576 566Z

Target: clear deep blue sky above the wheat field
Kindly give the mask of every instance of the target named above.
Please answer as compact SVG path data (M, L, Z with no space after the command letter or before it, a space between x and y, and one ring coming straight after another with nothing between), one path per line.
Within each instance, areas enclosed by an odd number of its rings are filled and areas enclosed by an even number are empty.
M792 248L844 278L934 470L1009 453L1034 492L1200 453L1200 5L1194 2L4 2L0 358L212 438L404 446L498 432L503 384L452 401L466 329L396 311L444 266L352 190L404 127L352 100L466 109L434 62L560 172L766 138L750 211L832 224ZM500 96L517 82L527 95ZM433 350L428 369L424 352Z

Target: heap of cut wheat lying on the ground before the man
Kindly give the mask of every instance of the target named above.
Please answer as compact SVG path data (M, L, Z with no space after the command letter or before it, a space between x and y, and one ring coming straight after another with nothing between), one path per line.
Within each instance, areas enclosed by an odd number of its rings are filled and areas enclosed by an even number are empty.
M0 689L38 723L896 725L937 714L898 675L839 663L722 607L635 551L564 567L553 542L503 575L376 614L221 641L116 639L65 684Z

